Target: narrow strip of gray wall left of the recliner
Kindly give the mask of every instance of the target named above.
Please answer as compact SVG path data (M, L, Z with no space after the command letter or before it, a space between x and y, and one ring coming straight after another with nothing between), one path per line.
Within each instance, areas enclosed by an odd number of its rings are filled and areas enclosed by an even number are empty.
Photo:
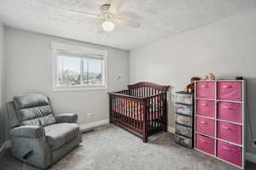
M2 108L3 98L4 98L4 78L3 78L3 62L4 62L4 47L5 47L5 34L4 34L4 26L0 20L0 146L4 141L4 119L5 114Z

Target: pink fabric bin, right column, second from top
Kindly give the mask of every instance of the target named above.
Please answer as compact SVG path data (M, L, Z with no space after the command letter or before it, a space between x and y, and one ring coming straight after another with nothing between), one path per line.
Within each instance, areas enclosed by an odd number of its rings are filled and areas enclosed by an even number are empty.
M242 122L241 104L218 102L218 119L230 122Z

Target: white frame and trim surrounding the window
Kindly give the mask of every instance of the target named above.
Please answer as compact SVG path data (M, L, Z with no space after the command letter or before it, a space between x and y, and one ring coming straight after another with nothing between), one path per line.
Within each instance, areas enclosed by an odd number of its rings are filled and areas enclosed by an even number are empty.
M73 90L102 90L108 88L108 51L96 48L84 48L81 46L74 46L60 42L51 42L52 48L52 90L53 91L73 91ZM56 80L57 73L57 57L59 54L72 54L74 57L88 59L89 56L93 58L99 58L102 60L102 75L103 84L96 85L70 85L70 86L58 86Z

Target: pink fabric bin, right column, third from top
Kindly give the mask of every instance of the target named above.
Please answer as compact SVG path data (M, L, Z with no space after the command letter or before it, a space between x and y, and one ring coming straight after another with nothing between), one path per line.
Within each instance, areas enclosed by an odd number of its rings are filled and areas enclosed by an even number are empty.
M218 122L218 139L241 144L241 126L229 122Z

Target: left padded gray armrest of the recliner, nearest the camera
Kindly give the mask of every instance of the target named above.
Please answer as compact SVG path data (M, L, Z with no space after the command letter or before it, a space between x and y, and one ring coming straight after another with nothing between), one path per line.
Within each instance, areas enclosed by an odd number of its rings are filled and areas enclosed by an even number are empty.
M45 137L44 127L25 125L21 127L15 127L10 131L12 136L24 137L24 138L42 138Z

